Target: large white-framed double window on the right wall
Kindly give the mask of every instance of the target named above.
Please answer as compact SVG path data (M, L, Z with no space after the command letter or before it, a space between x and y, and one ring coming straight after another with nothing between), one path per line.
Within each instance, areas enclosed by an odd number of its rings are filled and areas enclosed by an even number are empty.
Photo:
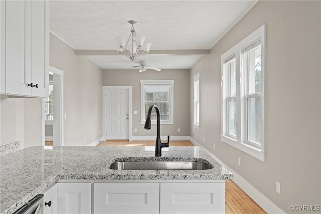
M221 56L222 141L264 161L265 25Z

